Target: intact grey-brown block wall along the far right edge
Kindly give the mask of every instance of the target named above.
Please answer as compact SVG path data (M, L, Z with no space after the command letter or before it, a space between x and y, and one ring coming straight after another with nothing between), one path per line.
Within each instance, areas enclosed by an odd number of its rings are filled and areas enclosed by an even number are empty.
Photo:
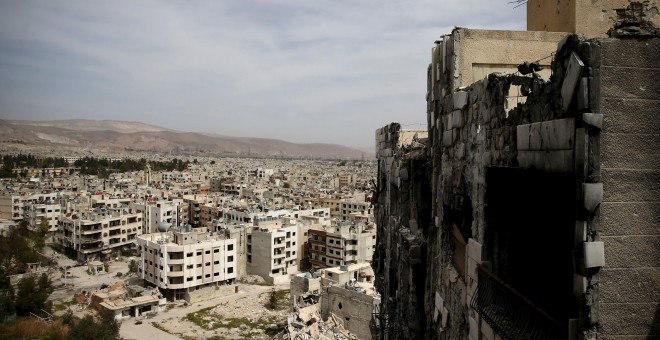
M607 39L601 53L600 331L660 337L660 39Z

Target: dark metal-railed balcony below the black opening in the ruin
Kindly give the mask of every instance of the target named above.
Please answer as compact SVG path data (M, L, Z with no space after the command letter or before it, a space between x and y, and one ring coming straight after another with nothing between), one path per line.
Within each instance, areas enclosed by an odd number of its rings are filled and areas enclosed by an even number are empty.
M470 306L502 339L563 339L567 330L511 286L478 267L477 291Z

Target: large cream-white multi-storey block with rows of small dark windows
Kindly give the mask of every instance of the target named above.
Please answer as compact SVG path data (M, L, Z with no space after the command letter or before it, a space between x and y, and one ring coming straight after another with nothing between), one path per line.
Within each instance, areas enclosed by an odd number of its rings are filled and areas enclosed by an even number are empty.
M164 290L168 299L188 299L191 291L232 284L237 276L237 244L226 231L179 230L141 235L139 276Z

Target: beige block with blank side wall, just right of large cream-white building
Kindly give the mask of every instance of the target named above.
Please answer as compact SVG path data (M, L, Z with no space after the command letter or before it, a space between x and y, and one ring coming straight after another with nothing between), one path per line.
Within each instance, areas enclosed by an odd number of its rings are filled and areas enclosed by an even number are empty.
M298 228L282 220L259 222L247 231L247 271L272 284L298 272Z

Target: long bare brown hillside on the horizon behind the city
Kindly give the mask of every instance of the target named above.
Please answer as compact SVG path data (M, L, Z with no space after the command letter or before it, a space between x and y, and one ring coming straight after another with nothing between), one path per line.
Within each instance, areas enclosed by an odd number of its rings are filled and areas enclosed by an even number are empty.
M0 120L0 150L155 152L206 156L373 159L373 153L337 144L296 144L277 139L180 132L113 120Z

